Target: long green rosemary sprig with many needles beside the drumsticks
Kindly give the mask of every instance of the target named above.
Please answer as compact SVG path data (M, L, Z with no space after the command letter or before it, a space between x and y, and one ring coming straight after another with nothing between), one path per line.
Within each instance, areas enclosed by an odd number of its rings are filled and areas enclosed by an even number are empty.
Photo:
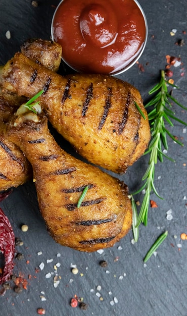
M142 178L142 180L145 181L145 183L139 190L133 193L134 195L141 192L143 189L145 190L145 195L143 198L141 209L139 211L136 227L138 227L141 223L144 223L144 225L147 225L148 223L148 210L150 205L151 192L154 191L154 193L162 199L162 197L159 195L155 188L154 176L155 165L157 164L158 159L161 162L163 162L163 157L166 157L167 159L173 161L162 151L162 145L166 150L168 150L167 136L169 136L179 145L183 145L165 127L165 122L167 122L170 126L173 126L173 123L170 119L174 119L175 121L187 126L187 123L176 118L175 113L171 110L171 101L175 102L179 107L181 107L184 110L187 110L187 108L182 106L182 104L180 104L173 96L171 96L171 94L168 91L168 85L170 84L165 79L165 72L164 70L162 70L160 82L149 92L149 94L156 94L145 106L146 109L152 107L152 111L148 114L152 132L152 139L149 144L148 150L145 152L145 154L150 154L149 165Z

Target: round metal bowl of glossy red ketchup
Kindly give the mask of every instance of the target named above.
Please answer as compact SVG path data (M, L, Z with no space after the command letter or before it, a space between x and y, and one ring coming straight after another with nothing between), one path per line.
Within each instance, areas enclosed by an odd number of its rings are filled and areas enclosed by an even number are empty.
M148 25L136 0L62 0L51 33L73 70L119 75L142 55Z

